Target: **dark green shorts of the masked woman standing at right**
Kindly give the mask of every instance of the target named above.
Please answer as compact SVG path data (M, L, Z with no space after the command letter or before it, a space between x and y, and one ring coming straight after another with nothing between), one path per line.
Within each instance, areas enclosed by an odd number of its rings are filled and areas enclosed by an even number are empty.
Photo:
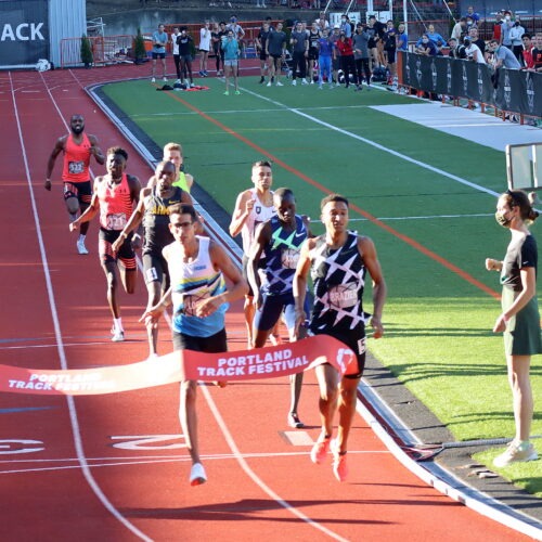
M505 311L516 297L511 288L503 288L502 308ZM515 317L511 318L504 336L506 356L534 356L542 353L540 313L537 297L533 297Z

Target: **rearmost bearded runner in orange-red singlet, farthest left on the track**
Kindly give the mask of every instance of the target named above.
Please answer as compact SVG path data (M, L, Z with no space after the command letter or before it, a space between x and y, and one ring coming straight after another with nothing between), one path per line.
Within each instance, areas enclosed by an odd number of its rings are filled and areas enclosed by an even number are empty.
M92 198L92 185L90 182L90 157L93 155L98 164L105 164L105 156L100 149L95 136L85 133L85 118L82 115L73 115L69 120L72 133L62 136L56 140L53 152L47 163L46 190L51 191L51 175L59 154L64 153L64 167L62 181L64 182L64 202L72 221L77 214L82 214L88 208ZM81 225L79 238L77 240L77 251L89 254L85 246L85 238L89 224Z

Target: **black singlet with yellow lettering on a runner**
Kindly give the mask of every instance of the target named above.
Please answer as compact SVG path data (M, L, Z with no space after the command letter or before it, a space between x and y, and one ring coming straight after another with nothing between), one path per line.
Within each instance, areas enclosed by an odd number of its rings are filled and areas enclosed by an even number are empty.
M182 190L176 186L169 197L158 195L158 186L145 198L145 214L143 216L143 228L145 229L145 244L143 254L155 254L162 256L162 249L173 242L173 235L169 231L168 207L181 203Z

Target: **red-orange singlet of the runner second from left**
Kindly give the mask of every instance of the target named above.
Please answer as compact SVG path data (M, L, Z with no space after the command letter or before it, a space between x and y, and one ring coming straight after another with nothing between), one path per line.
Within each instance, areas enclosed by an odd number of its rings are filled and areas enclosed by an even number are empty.
M96 189L100 201L100 225L104 230L122 230L133 211L133 202L128 184L128 176L111 186L104 179Z

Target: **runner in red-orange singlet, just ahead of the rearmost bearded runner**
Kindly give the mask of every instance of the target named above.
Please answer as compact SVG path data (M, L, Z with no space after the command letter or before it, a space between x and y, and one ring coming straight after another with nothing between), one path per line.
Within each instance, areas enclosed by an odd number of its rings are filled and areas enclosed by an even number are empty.
M120 263L120 278L127 294L136 289L136 253L131 245L132 235L124 235L122 229L134 205L139 201L141 184L137 177L125 173L128 153L119 146L107 149L107 173L94 179L94 192L89 208L69 224L75 231L94 218L100 211L100 260L107 280L107 302L113 314L112 340L125 340L125 331L117 301L117 269ZM113 243L119 237L124 243L117 253Z

